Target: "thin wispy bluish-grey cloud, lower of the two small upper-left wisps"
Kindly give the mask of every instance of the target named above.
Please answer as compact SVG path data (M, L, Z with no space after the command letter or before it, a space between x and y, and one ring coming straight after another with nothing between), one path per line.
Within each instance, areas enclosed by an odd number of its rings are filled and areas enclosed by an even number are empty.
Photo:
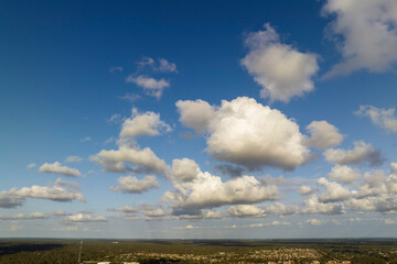
M130 75L127 77L126 81L127 84L136 84L137 86L142 87L147 96L155 97L157 99L161 98L164 88L170 87L170 82L163 78L158 80L143 75L138 77Z

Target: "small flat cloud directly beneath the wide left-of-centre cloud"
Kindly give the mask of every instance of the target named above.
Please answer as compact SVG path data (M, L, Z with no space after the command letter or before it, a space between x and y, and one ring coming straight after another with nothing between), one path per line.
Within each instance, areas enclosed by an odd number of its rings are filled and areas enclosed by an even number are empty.
M125 176L119 177L117 182L120 186L110 187L110 189L126 194L141 194L160 187L155 176L144 176L142 179L138 179L136 176Z

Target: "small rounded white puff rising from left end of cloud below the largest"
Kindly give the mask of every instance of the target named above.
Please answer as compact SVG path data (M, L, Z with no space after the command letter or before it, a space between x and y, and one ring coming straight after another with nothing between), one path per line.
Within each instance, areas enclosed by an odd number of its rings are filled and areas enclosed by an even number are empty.
M175 180L193 180L200 173L198 165L190 158L172 161L172 176Z

